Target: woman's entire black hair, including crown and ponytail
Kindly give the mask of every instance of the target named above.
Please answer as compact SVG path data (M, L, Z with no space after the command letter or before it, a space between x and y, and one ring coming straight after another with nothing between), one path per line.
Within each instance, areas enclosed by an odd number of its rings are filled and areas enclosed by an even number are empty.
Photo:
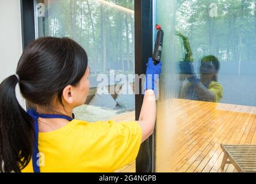
M16 75L0 84L0 172L20 172L30 162L35 140L33 120L20 106L15 87L28 103L49 106L63 89L85 75L87 55L74 40L43 37L30 43L18 62Z

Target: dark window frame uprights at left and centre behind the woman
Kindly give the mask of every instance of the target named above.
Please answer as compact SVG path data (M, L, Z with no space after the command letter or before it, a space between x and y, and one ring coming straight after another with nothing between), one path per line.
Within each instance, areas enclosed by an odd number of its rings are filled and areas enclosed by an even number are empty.
M35 0L20 0L23 50L36 38L34 3ZM135 0L135 74L139 75L146 73L148 57L152 56L152 5L153 0ZM135 95L136 120L139 120L142 102L143 95ZM151 136L141 145L136 159L137 173L151 173L154 171L152 169L154 162L152 159L154 153L152 151L153 141L153 136Z

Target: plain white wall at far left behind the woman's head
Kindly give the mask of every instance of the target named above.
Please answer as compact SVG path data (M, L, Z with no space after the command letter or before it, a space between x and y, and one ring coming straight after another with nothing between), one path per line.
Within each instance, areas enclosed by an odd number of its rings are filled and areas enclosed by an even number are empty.
M20 0L0 0L0 82L16 72L22 53ZM18 85L17 85L18 86ZM20 94L19 101L24 105Z

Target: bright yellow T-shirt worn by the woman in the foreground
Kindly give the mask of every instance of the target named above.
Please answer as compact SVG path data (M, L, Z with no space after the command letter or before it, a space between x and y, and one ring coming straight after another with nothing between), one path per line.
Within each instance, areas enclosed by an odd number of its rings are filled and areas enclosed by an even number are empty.
M141 141L137 122L72 120L39 133L40 172L113 172L136 159ZM32 161L22 172L33 172Z

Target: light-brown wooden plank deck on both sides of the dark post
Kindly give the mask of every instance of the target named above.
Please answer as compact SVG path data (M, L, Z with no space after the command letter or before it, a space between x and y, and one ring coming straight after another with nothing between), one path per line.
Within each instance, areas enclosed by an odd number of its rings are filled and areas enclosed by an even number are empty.
M256 144L255 107L175 99L175 110L170 111L172 113L165 116L176 114L177 117L173 154L170 155L173 168L168 171L236 172L231 164L220 169L223 159L220 144ZM115 120L134 120L134 117L134 112L126 113ZM158 125L161 123L157 122ZM156 156L157 152L158 147ZM135 172L135 163L119 172Z

